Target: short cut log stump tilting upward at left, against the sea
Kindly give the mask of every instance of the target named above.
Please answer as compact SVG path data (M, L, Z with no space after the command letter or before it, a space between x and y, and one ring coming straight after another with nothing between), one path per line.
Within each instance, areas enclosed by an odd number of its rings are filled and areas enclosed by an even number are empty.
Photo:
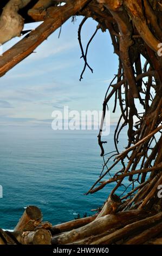
M33 231L42 221L41 210L36 206L29 205L25 209L20 221L15 227L15 231Z

